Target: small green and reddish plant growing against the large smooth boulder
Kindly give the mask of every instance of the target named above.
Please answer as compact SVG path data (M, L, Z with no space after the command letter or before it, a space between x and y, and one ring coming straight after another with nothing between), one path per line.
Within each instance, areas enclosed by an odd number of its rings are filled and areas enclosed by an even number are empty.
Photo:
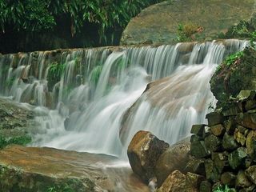
M182 24L178 23L177 33L178 42L191 42L193 40L192 35L197 33L198 26L192 23Z

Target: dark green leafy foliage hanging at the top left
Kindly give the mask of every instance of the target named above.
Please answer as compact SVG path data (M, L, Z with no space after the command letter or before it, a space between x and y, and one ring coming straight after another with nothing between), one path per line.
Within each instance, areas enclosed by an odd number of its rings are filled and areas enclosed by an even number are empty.
M142 8L162 0L0 0L0 30L37 32L52 30L62 21L70 34L89 23L96 26L101 40L109 29L124 28Z

